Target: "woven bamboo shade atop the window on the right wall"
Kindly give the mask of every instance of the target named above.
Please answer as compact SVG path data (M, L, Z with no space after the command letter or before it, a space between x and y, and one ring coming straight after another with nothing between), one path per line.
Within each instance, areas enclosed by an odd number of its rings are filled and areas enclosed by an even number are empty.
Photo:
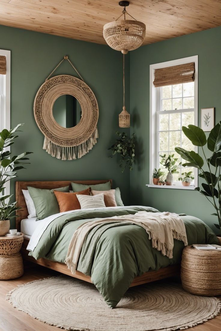
M179 66L156 69L153 84L155 87L193 82L195 78L195 63L185 63Z

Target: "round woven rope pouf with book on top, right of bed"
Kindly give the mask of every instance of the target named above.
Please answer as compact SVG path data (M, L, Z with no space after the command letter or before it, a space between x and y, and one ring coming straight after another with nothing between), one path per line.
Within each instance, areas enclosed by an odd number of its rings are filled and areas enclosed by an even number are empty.
M221 295L221 251L183 250L181 280L184 290L203 296Z

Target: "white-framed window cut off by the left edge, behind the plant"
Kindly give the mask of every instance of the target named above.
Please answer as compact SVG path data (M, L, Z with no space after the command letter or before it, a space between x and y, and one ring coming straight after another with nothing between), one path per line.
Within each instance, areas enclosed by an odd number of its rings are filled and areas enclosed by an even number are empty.
M11 51L0 49L0 132L10 129L10 61ZM9 194L10 182L8 181L5 186L4 193Z

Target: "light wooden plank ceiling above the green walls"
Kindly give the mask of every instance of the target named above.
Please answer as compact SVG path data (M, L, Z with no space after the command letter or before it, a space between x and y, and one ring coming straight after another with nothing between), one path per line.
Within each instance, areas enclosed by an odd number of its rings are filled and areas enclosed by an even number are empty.
M0 0L0 24L105 44L103 25L118 0ZM221 0L131 0L128 12L146 24L144 44L221 25Z

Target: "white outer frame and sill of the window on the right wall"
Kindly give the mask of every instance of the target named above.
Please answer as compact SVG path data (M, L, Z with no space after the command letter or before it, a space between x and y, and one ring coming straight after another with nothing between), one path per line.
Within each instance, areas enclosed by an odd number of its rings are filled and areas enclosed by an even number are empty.
M150 161L149 161L149 184L148 187L159 188L175 188L184 190L194 190L198 186L198 170L194 168L194 185L153 185L152 174L154 168L157 167L157 88L154 87L154 71L160 68L172 67L181 64L195 62L195 80L194 80L194 124L198 125L198 55L190 56L183 59L156 63L150 65ZM177 112L177 111L171 111ZM198 153L198 148L195 146L194 151Z

